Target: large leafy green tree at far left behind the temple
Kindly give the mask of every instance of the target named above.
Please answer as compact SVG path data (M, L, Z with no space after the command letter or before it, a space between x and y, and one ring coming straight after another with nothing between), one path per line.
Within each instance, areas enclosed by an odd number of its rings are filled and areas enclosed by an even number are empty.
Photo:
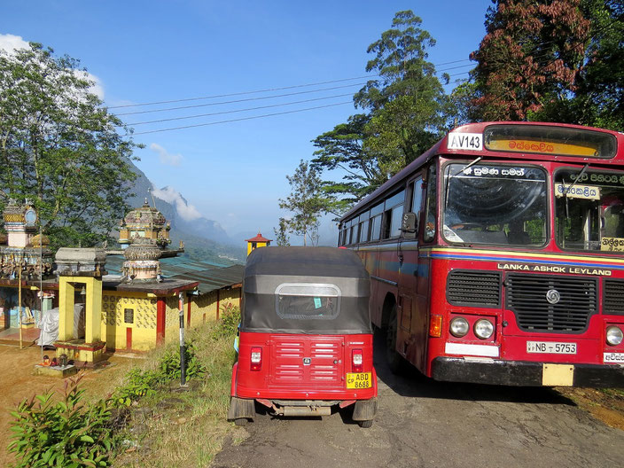
M107 238L135 178L136 145L78 67L41 44L0 51L0 209L30 199L52 246Z

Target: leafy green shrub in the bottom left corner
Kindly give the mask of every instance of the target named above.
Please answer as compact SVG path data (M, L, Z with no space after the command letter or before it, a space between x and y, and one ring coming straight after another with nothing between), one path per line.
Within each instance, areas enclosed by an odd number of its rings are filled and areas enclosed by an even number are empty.
M9 451L16 456L17 468L109 466L113 448L107 427L110 401L83 406L84 390L78 389L81 378L66 379L58 402L54 392L48 392L20 402L12 411L14 434Z

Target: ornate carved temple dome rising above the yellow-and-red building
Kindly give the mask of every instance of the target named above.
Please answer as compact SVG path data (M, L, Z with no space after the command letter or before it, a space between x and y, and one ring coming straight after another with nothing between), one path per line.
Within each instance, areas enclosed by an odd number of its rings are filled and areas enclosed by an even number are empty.
M150 207L145 199L143 207L133 209L121 220L119 243L121 248L126 248L133 238L149 238L160 248L166 248L171 244L169 230L171 223L158 209Z

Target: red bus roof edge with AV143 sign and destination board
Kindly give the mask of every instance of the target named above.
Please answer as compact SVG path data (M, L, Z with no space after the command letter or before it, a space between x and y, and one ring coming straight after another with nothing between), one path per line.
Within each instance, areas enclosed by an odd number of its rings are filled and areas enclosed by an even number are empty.
M496 121L468 123L452 129L340 218L345 221L378 196L403 185L405 178L440 154L466 158L557 160L624 164L624 134L606 129L553 122Z

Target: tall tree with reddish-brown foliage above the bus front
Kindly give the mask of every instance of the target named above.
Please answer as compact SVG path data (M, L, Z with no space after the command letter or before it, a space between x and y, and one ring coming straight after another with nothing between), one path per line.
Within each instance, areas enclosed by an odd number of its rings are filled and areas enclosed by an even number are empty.
M589 20L581 0L492 0L472 72L473 120L519 121L576 89Z

